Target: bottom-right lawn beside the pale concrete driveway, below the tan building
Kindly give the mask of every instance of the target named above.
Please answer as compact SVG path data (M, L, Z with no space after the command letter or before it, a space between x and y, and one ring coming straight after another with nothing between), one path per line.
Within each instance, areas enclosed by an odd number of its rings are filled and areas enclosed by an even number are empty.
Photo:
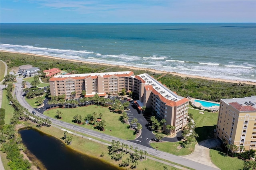
M242 170L244 168L243 160L227 156L220 148L210 149L210 157L212 163L221 170Z

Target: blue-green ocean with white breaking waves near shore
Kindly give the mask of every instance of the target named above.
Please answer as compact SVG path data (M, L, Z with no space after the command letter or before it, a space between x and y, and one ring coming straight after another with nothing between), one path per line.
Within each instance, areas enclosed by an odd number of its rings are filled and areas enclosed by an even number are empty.
M256 23L0 24L0 49L256 82Z

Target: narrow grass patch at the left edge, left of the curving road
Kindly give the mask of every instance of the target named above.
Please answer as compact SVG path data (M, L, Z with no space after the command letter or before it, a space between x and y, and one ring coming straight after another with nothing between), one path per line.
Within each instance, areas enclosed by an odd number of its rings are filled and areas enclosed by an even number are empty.
M9 101L6 98L6 90L3 90L3 98L2 98L2 106L3 109L5 109L5 124L10 123L10 119L12 119L14 109L11 105L9 105Z

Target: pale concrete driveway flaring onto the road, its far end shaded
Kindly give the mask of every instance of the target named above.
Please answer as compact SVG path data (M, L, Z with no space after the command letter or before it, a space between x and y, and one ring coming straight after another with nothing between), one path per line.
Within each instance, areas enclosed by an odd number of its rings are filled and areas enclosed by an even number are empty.
M210 148L220 146L220 144L218 139L207 139L196 144L192 154L181 157L219 169L210 159Z

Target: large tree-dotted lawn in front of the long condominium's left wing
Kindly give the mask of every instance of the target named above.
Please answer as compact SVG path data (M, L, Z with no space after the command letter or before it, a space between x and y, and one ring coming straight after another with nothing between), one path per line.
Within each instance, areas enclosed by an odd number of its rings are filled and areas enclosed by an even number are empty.
M93 125L82 125L82 124L81 125L76 124L76 125L89 128L92 130L96 130L96 131L109 134L112 136L116 136L118 138L122 138L126 140L133 140L136 136L134 134L134 130L131 130L128 124L121 123L121 121L119 121L122 115L110 112L108 107L89 105L86 107L77 107L77 108L55 108L55 109L50 109L45 111L44 115L54 118L56 116L57 110L63 113L61 120L67 123L73 123L72 122L73 117L77 114L81 115L83 119L85 119L86 115L88 114L92 114L94 112L96 112L97 114L102 113L103 114L102 120L106 121L105 131L99 131L95 129Z

